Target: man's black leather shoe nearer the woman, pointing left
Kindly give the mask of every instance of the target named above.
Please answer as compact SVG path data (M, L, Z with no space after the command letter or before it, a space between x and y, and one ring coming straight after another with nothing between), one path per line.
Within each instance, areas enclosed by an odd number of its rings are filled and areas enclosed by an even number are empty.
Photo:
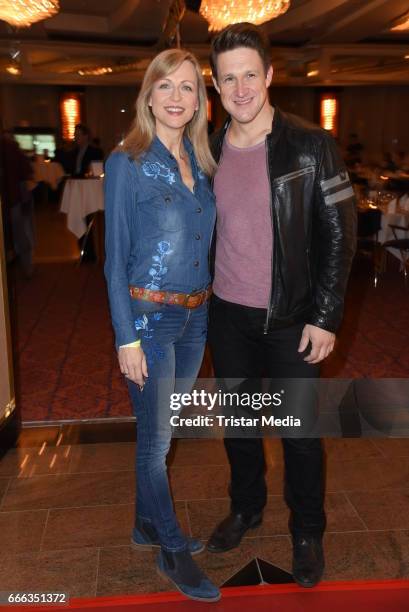
M209 552L226 552L236 548L248 529L261 525L262 512L250 516L229 514L213 531L207 543Z

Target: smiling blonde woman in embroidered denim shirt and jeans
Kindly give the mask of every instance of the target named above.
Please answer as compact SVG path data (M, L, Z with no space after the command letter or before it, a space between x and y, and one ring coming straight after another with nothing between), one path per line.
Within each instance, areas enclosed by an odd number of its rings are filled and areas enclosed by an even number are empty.
M137 417L133 543L160 546L160 573L201 601L220 592L192 559L203 544L177 523L166 455L170 394L191 390L206 340L213 170L200 66L187 51L163 51L147 69L131 131L106 165L105 275Z

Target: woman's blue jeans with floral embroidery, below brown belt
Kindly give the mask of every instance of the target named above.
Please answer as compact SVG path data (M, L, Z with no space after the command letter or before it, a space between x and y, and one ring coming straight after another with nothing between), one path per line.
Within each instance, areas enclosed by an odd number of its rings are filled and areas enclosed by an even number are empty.
M161 546L170 551L186 547L180 530L166 469L172 436L172 393L189 393L203 358L207 333L207 304L195 309L132 300L148 365L143 391L128 381L137 420L136 525L148 522Z

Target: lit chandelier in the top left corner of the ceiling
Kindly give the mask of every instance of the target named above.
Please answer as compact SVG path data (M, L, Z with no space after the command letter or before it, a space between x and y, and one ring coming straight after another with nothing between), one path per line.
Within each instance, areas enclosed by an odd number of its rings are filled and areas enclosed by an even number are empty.
M17 28L27 28L52 17L59 9L58 0L0 0L0 20Z

